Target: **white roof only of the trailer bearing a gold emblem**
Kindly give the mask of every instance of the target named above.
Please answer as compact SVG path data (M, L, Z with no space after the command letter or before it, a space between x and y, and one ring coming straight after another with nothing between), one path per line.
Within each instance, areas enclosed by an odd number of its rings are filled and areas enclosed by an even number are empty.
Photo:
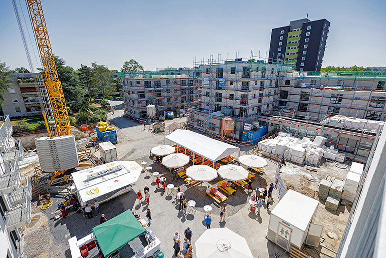
M103 172L106 169L121 165L121 168L94 178L88 178L91 173ZM113 161L103 165L72 173L72 178L78 190L81 201L89 201L103 196L136 182L142 167L135 161Z

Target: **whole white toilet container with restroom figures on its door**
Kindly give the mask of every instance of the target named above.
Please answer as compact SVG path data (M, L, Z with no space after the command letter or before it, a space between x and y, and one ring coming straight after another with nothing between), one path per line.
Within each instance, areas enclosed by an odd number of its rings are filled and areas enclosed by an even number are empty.
M267 238L287 251L290 245L301 249L315 220L318 204L315 199L288 190L271 211Z

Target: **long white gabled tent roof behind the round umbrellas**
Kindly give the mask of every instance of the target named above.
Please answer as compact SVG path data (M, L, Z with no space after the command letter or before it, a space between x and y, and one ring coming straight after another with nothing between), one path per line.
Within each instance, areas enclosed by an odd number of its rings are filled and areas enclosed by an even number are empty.
M175 142L176 144L212 161L223 159L240 151L239 147L189 130L177 129L165 136L165 139Z

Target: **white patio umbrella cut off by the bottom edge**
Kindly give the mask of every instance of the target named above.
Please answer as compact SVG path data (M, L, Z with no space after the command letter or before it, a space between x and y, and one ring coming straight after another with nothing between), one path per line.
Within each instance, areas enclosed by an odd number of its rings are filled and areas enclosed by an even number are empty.
M196 257L252 258L247 240L227 227L210 228L197 239Z

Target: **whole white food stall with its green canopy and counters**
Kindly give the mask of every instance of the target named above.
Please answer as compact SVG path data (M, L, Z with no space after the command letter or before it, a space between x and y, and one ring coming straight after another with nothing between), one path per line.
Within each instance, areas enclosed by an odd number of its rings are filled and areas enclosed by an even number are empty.
M134 215L135 214L135 215ZM68 240L72 258L157 257L161 242L136 212L126 210L93 227L82 239Z

